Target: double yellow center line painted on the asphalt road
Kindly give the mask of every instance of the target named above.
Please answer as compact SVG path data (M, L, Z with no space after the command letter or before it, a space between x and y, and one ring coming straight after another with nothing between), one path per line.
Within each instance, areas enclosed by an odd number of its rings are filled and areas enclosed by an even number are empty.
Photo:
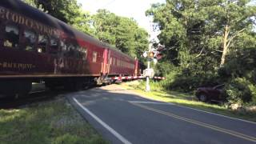
M151 111L154 111L155 113L158 113L158 114L164 114L164 115L166 115L168 117L171 117L171 118L176 118L176 119L179 119L179 120L182 120L182 121L185 121L185 122L193 123L194 125L203 126L203 127L209 128L211 130L216 130L216 131L219 131L219 132L222 132L222 133L230 134L230 135L233 135L234 137L242 138L242 139L248 140L250 142L256 142L255 137L251 137L251 136L246 135L246 134L241 134L241 133L238 133L238 132L233 131L233 130L223 129L221 127L213 126L213 125L210 125L210 124L207 124L207 123L204 123L204 122L198 122L198 121L195 121L195 120L190 119L190 118L181 117L177 114L171 114L171 113L167 113L167 112L162 111L162 110L156 110L156 109L151 108L149 106L143 106L142 104L139 104L139 103L134 103L134 102L130 102L130 103L133 104L134 106L138 106L138 107L141 107L141 108L146 109L146 110L151 110Z

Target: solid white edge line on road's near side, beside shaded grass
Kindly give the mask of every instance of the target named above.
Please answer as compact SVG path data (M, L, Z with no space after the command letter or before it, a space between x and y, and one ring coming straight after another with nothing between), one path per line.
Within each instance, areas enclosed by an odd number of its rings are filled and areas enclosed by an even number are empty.
M118 138L121 142L125 144L131 144L126 138L122 137L121 134L118 134L114 129L112 129L110 126L108 126L105 122L103 122L100 118L98 118L95 114L93 114L90 110L86 109L85 106L82 106L80 102L76 98L73 98L74 102L78 104L82 108L82 110L85 110L87 114L90 114L92 118L94 118L98 123L100 123L103 127L106 128L106 130L109 130L111 134L114 134L116 138Z

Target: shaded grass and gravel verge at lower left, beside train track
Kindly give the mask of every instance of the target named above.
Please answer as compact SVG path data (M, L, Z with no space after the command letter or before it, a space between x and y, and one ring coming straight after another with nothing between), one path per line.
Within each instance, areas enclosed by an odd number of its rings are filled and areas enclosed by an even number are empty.
M0 110L1 144L108 143L65 98L35 103L16 110Z

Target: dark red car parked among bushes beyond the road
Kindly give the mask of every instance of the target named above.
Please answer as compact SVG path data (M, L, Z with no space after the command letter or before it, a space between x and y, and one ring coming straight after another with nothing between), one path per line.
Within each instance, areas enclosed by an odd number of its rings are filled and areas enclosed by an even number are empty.
M226 98L223 95L224 84L214 87L199 87L196 92L196 97L201 102L222 102Z

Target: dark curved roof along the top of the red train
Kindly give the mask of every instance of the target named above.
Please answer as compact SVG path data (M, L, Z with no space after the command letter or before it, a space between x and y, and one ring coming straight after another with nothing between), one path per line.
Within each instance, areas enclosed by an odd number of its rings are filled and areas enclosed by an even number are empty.
M107 47L111 50L117 51L120 54L123 54L121 51L116 49L113 46L110 46L109 44L105 42L101 42L96 38L93 38L90 36L90 34L82 33L78 30L75 30L72 26L67 25L65 22L62 22L58 18L54 18L50 14L46 14L42 12L41 10L38 10L32 6L27 5L25 2L22 2L21 0L1 0L0 6L4 6L7 9L13 10L14 12L18 14L23 14L24 16L28 18L33 18L34 20L41 22L42 24L45 24L46 26L50 26L53 28L56 28L58 30L62 30L66 34L74 37L74 38L82 38L86 39L89 42L93 43L97 46ZM126 55L126 54L124 54ZM126 57L129 57L126 55Z

